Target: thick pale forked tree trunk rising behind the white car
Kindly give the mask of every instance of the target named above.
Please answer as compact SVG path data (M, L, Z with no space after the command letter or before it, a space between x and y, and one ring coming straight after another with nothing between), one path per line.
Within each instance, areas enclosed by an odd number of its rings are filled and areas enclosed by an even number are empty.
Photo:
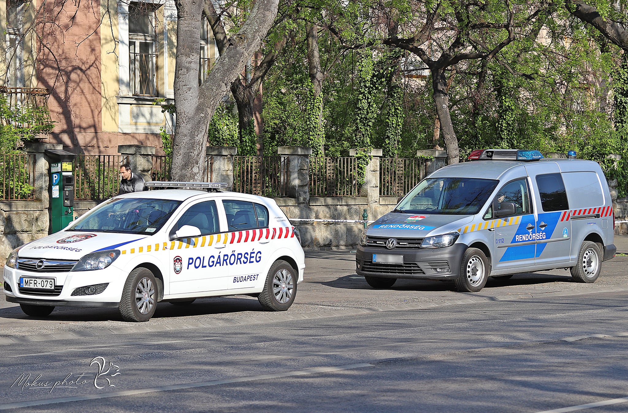
M172 155L173 181L202 181L207 129L231 83L259 49L277 14L279 0L257 0L249 18L220 55L205 82L198 86L200 19L203 3L177 0L175 105L176 131ZM189 41L182 41L183 39ZM198 40L197 40L198 39Z

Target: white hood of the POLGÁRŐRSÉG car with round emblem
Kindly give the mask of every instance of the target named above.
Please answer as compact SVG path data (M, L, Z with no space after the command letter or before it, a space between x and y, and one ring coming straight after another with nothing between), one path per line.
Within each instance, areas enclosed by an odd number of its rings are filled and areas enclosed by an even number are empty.
M137 233L60 231L23 245L18 257L79 260L90 252L118 249L144 238Z

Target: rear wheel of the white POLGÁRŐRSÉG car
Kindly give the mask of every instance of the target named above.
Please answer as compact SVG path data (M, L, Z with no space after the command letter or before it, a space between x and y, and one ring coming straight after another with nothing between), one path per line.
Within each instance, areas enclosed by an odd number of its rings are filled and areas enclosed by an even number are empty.
M285 262L274 262L266 276L264 289L257 296L259 304L268 311L286 311L296 297L296 279L298 272Z

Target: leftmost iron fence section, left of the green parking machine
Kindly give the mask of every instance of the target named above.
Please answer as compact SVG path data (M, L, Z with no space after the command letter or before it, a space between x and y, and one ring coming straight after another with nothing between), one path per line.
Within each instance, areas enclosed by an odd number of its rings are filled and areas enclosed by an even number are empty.
M35 199L35 155L0 155L3 201Z

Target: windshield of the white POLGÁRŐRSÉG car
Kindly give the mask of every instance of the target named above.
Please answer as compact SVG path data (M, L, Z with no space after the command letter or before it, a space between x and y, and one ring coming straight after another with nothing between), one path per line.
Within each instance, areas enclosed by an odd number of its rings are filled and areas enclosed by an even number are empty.
M114 198L88 212L68 231L151 234L160 230L181 201Z

